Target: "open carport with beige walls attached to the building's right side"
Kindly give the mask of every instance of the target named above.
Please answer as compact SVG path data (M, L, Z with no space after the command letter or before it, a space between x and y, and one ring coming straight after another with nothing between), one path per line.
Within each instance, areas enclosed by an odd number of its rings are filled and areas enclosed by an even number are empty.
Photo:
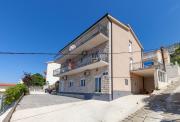
M147 68L134 70L131 71L131 76L133 93L149 94L168 85L167 74L161 69Z

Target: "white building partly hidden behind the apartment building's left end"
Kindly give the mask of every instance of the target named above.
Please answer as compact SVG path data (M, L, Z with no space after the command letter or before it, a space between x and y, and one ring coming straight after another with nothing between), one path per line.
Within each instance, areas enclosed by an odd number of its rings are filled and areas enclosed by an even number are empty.
M57 64L57 63L54 63L54 62L48 62L48 63L47 63L46 81L49 82L49 85L52 85L52 84L54 84L56 81L59 80L59 77L54 77L54 76L53 76L53 71L54 71L55 69L60 68L60 67L61 67L60 64Z

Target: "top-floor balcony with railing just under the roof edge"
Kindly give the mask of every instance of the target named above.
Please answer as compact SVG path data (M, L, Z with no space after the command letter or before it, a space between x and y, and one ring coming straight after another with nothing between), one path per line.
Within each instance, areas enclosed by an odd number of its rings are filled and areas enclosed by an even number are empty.
M84 50L90 50L106 42L108 36L109 31L107 24L98 24L62 50L62 55L57 56L56 61L62 63L69 58L75 57L76 54L80 54Z

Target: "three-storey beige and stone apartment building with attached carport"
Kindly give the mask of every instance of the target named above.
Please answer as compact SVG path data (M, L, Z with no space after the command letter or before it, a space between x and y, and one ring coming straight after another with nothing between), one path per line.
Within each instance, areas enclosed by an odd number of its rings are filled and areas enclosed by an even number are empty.
M131 26L109 14L61 49L55 63L61 64L54 70L61 79L60 94L85 99L149 93L157 86L157 72L164 73L159 64L145 67L143 47Z

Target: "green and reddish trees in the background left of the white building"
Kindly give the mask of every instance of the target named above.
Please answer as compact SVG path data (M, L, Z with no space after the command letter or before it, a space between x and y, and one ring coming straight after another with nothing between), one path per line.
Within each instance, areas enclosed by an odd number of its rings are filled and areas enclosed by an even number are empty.
M46 83L45 78L39 74L24 73L22 81L25 85L29 86L43 86Z

